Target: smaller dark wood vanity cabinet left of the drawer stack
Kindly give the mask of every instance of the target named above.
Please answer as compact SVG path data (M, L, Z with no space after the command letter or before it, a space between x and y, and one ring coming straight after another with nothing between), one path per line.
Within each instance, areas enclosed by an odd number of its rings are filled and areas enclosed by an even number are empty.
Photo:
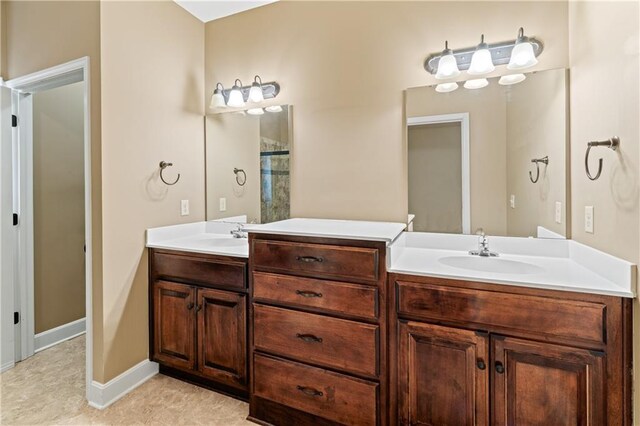
M247 399L246 259L149 256L151 359L163 374Z

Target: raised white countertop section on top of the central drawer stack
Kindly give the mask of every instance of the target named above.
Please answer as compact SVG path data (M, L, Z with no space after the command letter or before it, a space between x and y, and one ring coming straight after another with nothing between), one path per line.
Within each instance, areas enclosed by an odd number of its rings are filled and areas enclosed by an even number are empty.
M258 225L247 230L250 233L384 241L390 244L406 226L404 223L366 222L360 220L287 219Z

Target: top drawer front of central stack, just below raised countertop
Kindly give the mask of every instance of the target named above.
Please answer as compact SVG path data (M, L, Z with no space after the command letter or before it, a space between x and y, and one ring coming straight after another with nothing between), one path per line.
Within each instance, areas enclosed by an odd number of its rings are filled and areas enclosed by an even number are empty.
M256 268L340 280L378 280L378 250L325 244L253 240Z

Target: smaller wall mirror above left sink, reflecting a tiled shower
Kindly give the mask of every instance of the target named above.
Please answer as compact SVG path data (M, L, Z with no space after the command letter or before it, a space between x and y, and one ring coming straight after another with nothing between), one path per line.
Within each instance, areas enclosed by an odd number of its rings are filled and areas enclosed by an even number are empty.
M289 218L291 110L282 105L265 108L261 115L207 116L207 220Z

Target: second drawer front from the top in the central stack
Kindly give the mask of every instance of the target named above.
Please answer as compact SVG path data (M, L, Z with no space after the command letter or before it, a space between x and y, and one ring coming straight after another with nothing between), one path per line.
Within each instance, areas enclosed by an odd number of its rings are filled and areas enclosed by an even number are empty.
M254 272L253 298L367 319L378 317L378 289L361 284Z

